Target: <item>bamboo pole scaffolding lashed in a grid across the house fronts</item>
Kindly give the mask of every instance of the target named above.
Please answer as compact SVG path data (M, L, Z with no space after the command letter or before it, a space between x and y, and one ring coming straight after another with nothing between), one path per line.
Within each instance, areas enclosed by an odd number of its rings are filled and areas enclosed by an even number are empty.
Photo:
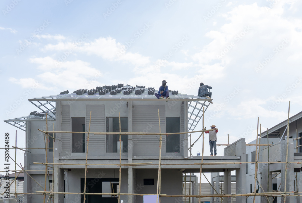
M289 117L289 111L290 111L290 101L289 101L289 109L288 109L288 117ZM91 113L90 112L90 120L91 120ZM158 114L159 114L159 110L158 110ZM120 119L120 115L119 115L119 119ZM46 120L46 123L47 123L47 120ZM258 123L259 123L259 117L258 117ZM119 123L120 124L120 123ZM48 126L48 125L47 125ZM288 119L288 127L289 127L289 119ZM214 130L214 129L210 129L210 130ZM287 170L287 164L288 163L297 163L297 164L301 164L301 162L288 162L288 139L289 139L289 128L288 128L288 136L287 136L287 155L286 155L286 161L285 162L270 162L269 161L269 152L268 152L268 161L267 162L260 162L259 161L259 155L260 155L260 146L269 146L269 144L260 144L260 139L261 137L259 138L259 144L258 144L258 125L257 125L257 139L256 139L256 145L254 144L247 144L246 146L256 146L256 150L258 150L258 154L257 154L257 151L256 151L256 158L255 158L255 162L251 161L251 162L224 162L224 163L219 163L219 162L208 162L208 163L204 163L203 159L204 159L204 131L210 131L210 130L205 130L204 129L204 111L203 111L203 130L199 130L199 131L193 131L193 132L190 132L190 133L198 133L198 132L201 132L201 135L199 136L199 138L201 136L203 136L203 148L202 148L202 157L201 157L201 163L194 163L194 164L161 164L161 145L162 145L162 135L176 135L176 134L188 134L188 132L183 132L183 133L161 133L160 131L160 118L159 118L159 133L136 133L136 132L120 132L120 163L119 164L88 164L87 163L87 153L88 153L88 142L89 142L89 134L90 134L90 121L89 121L89 130L88 132L65 132L65 131L55 131L54 130L54 127L53 127L53 131L48 131L48 128L46 131L42 131L42 130L39 130L41 132L44 133L44 136L46 134L46 137L51 137L48 133L53 133L53 146L54 146L54 142L55 142L55 139L54 139L54 133L87 133L88 134L88 140L87 140L87 150L86 150L86 160L85 160L85 164L66 164L66 163L54 163L54 150L53 150L53 163L48 163L48 160L47 160L47 151L48 149L50 149L48 147L48 142L45 142L45 148L18 148L17 147L17 143L15 144L16 146L15 147L12 147L12 149L15 149L15 170L14 173L15 173L15 180L16 181L16 173L17 171L19 170L16 170L16 151L17 149L19 150L23 150L23 149L45 149L46 150L46 162L45 163L37 163L37 162L34 162L34 164L43 164L45 165L45 170L24 170L24 167L23 170L20 170L20 173L22 171L24 171L25 173L27 173L26 171L45 171L45 174L47 175L47 172L52 172L52 174L54 175L54 170L47 170L48 167L51 167L49 165L85 165L85 183L86 183L86 173L87 173L87 167L88 165L96 165L96 166L101 166L101 165L116 165L118 167L120 167L120 178L119 178L119 193L86 193L84 191L84 193L70 193L70 192L53 192L53 187L51 189L50 192L46 191L46 180L45 180L45 187L43 188L42 186L40 186L44 191L36 191L38 193L19 193L19 192L16 192L16 188L15 188L15 192L14 193L11 193L11 194L14 194L14 195L17 195L17 194L34 194L34 195L37 195L37 194L40 194L41 193L43 194L44 198L43 198L43 202L45 202L45 198L46 198L46 195L49 195L48 197L48 200L50 199L51 201L51 198L53 197L53 195L50 195L50 194L82 194L84 195L84 203L85 203L85 195L94 195L94 194L107 194L107 195L118 195L118 201L120 201L120 195L154 195L154 194L136 194L136 193L120 193L120 180L121 180L121 167L125 167L125 166L144 166L144 165L158 165L159 166L159 173L158 173L158 187L157 187L157 199L159 198L160 200L160 197L189 197L189 201L191 201L191 197L220 197L221 199L223 199L222 197L236 197L236 196L254 196L254 201L255 201L255 196L266 196L266 198L268 196L281 196L281 197L284 197L284 202L285 202L285 199L286 199L286 196L302 196L300 195L302 192L286 192L286 170ZM297 130L297 129L296 129ZM121 131L121 130L120 130ZM114 135L116 133L108 133L108 132L100 132L100 133L93 133L93 134L99 134L99 135ZM122 164L121 163L121 135L159 135L160 136L160 155L159 155L159 164L153 164L153 162L146 162L146 163L136 163L136 164ZM260 135L261 135L261 124L260 124ZM16 138L17 138L17 133L16 133ZM198 138L198 139L199 139ZM297 140L297 139L300 139L301 137L297 137L297 138L294 138L293 140ZM194 142L196 143L198 141L198 139ZM17 140L17 139L16 139ZM190 147L188 148L188 150L190 151L190 155L192 156L192 147L193 147L193 144L191 144L191 134L190 134ZM228 144L217 144L217 146L229 146L230 145L230 141L229 141L229 134L228 134ZM302 145L300 145L302 146ZM296 149L300 146L297 146L296 144ZM54 148L54 147L53 147ZM53 149L52 148L52 149ZM258 149L259 148L259 149ZM2 148L0 148L2 149ZM25 150L23 150L25 151ZM12 159L13 160L13 159ZM285 167L285 189L284 189L284 192L262 192L262 193L255 193L255 187L256 187L256 184L254 185L254 192L253 193L247 193L247 194L217 194L217 195L213 195L213 194L210 194L210 195L202 195L201 194L201 191L199 192L199 195L191 195L191 173L190 173L190 193L189 195L164 195L164 194L161 194L160 192L160 183L161 183L161 166L162 165L200 165L201 166L201 172L202 172L202 165L221 165L221 164L244 164L244 163L255 163L255 167L257 165L257 169L258 169L258 164L259 163L268 163L269 164L274 164L274 163L278 163L278 164L283 164L285 163L286 167ZM19 165L18 165L19 166ZM51 167L51 168L54 168L54 167ZM258 170L255 170L255 182L258 181L257 179L257 171ZM20 174L19 173L19 174ZM27 173L28 174L28 173ZM29 175L29 174L28 174ZM204 175L204 173L203 173ZM278 175L278 174L277 174ZM276 176L277 176L276 175ZM30 175L29 175L30 176ZM275 176L275 177L276 177ZM30 176L31 177L31 176ZM206 177L206 176L205 176ZM274 177L274 178L275 178ZM32 177L31 177L32 178ZM46 177L45 177L46 178ZM33 179L33 178L32 178ZM206 178L207 179L207 178ZM34 179L33 179L34 180ZM200 177L200 180L201 180L201 177ZM207 180L208 181L208 180ZM186 180L185 180L186 182ZM209 182L209 181L208 181ZM39 183L38 183L39 184ZM200 181L200 184L201 184L201 181ZM16 185L16 184L15 184ZM210 184L211 185L211 184ZM212 186L212 185L211 185ZM85 187L85 186L84 186ZM213 187L213 186L212 186ZM262 186L260 185L260 187L262 188ZM279 185L280 187L280 185ZM85 187L86 188L86 187ZM201 190L201 187L199 188L199 190ZM215 189L214 189L215 190ZM263 188L262 188L263 190ZM264 191L264 190L263 190ZM218 193L216 190L215 190L216 193ZM268 198L267 198L268 199ZM48 202L47 200L47 202ZM199 200L200 201L200 200ZM269 200L268 200L269 202Z

